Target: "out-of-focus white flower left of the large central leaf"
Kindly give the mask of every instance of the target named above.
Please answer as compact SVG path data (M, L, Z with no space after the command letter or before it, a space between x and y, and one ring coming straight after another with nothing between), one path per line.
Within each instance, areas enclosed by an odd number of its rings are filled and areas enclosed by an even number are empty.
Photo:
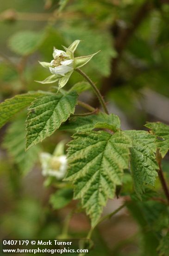
M57 144L53 155L43 152L40 154L42 174L44 176L54 176L57 180L62 180L67 171L67 159L64 155L64 142Z

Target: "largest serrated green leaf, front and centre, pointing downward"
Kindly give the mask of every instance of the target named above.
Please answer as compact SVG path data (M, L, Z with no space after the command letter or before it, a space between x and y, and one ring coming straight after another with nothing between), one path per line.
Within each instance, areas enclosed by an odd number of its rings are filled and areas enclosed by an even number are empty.
M116 185L122 182L128 168L130 139L122 132L111 135L104 131L75 134L69 142L68 175L74 184L74 197L98 221L108 198L113 198Z

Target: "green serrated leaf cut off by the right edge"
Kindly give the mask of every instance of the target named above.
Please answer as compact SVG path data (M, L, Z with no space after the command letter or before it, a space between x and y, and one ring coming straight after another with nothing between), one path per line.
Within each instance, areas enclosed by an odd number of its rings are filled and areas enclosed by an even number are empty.
M157 147L164 157L169 150L169 126L162 122L148 122L145 127L149 128L157 137Z

